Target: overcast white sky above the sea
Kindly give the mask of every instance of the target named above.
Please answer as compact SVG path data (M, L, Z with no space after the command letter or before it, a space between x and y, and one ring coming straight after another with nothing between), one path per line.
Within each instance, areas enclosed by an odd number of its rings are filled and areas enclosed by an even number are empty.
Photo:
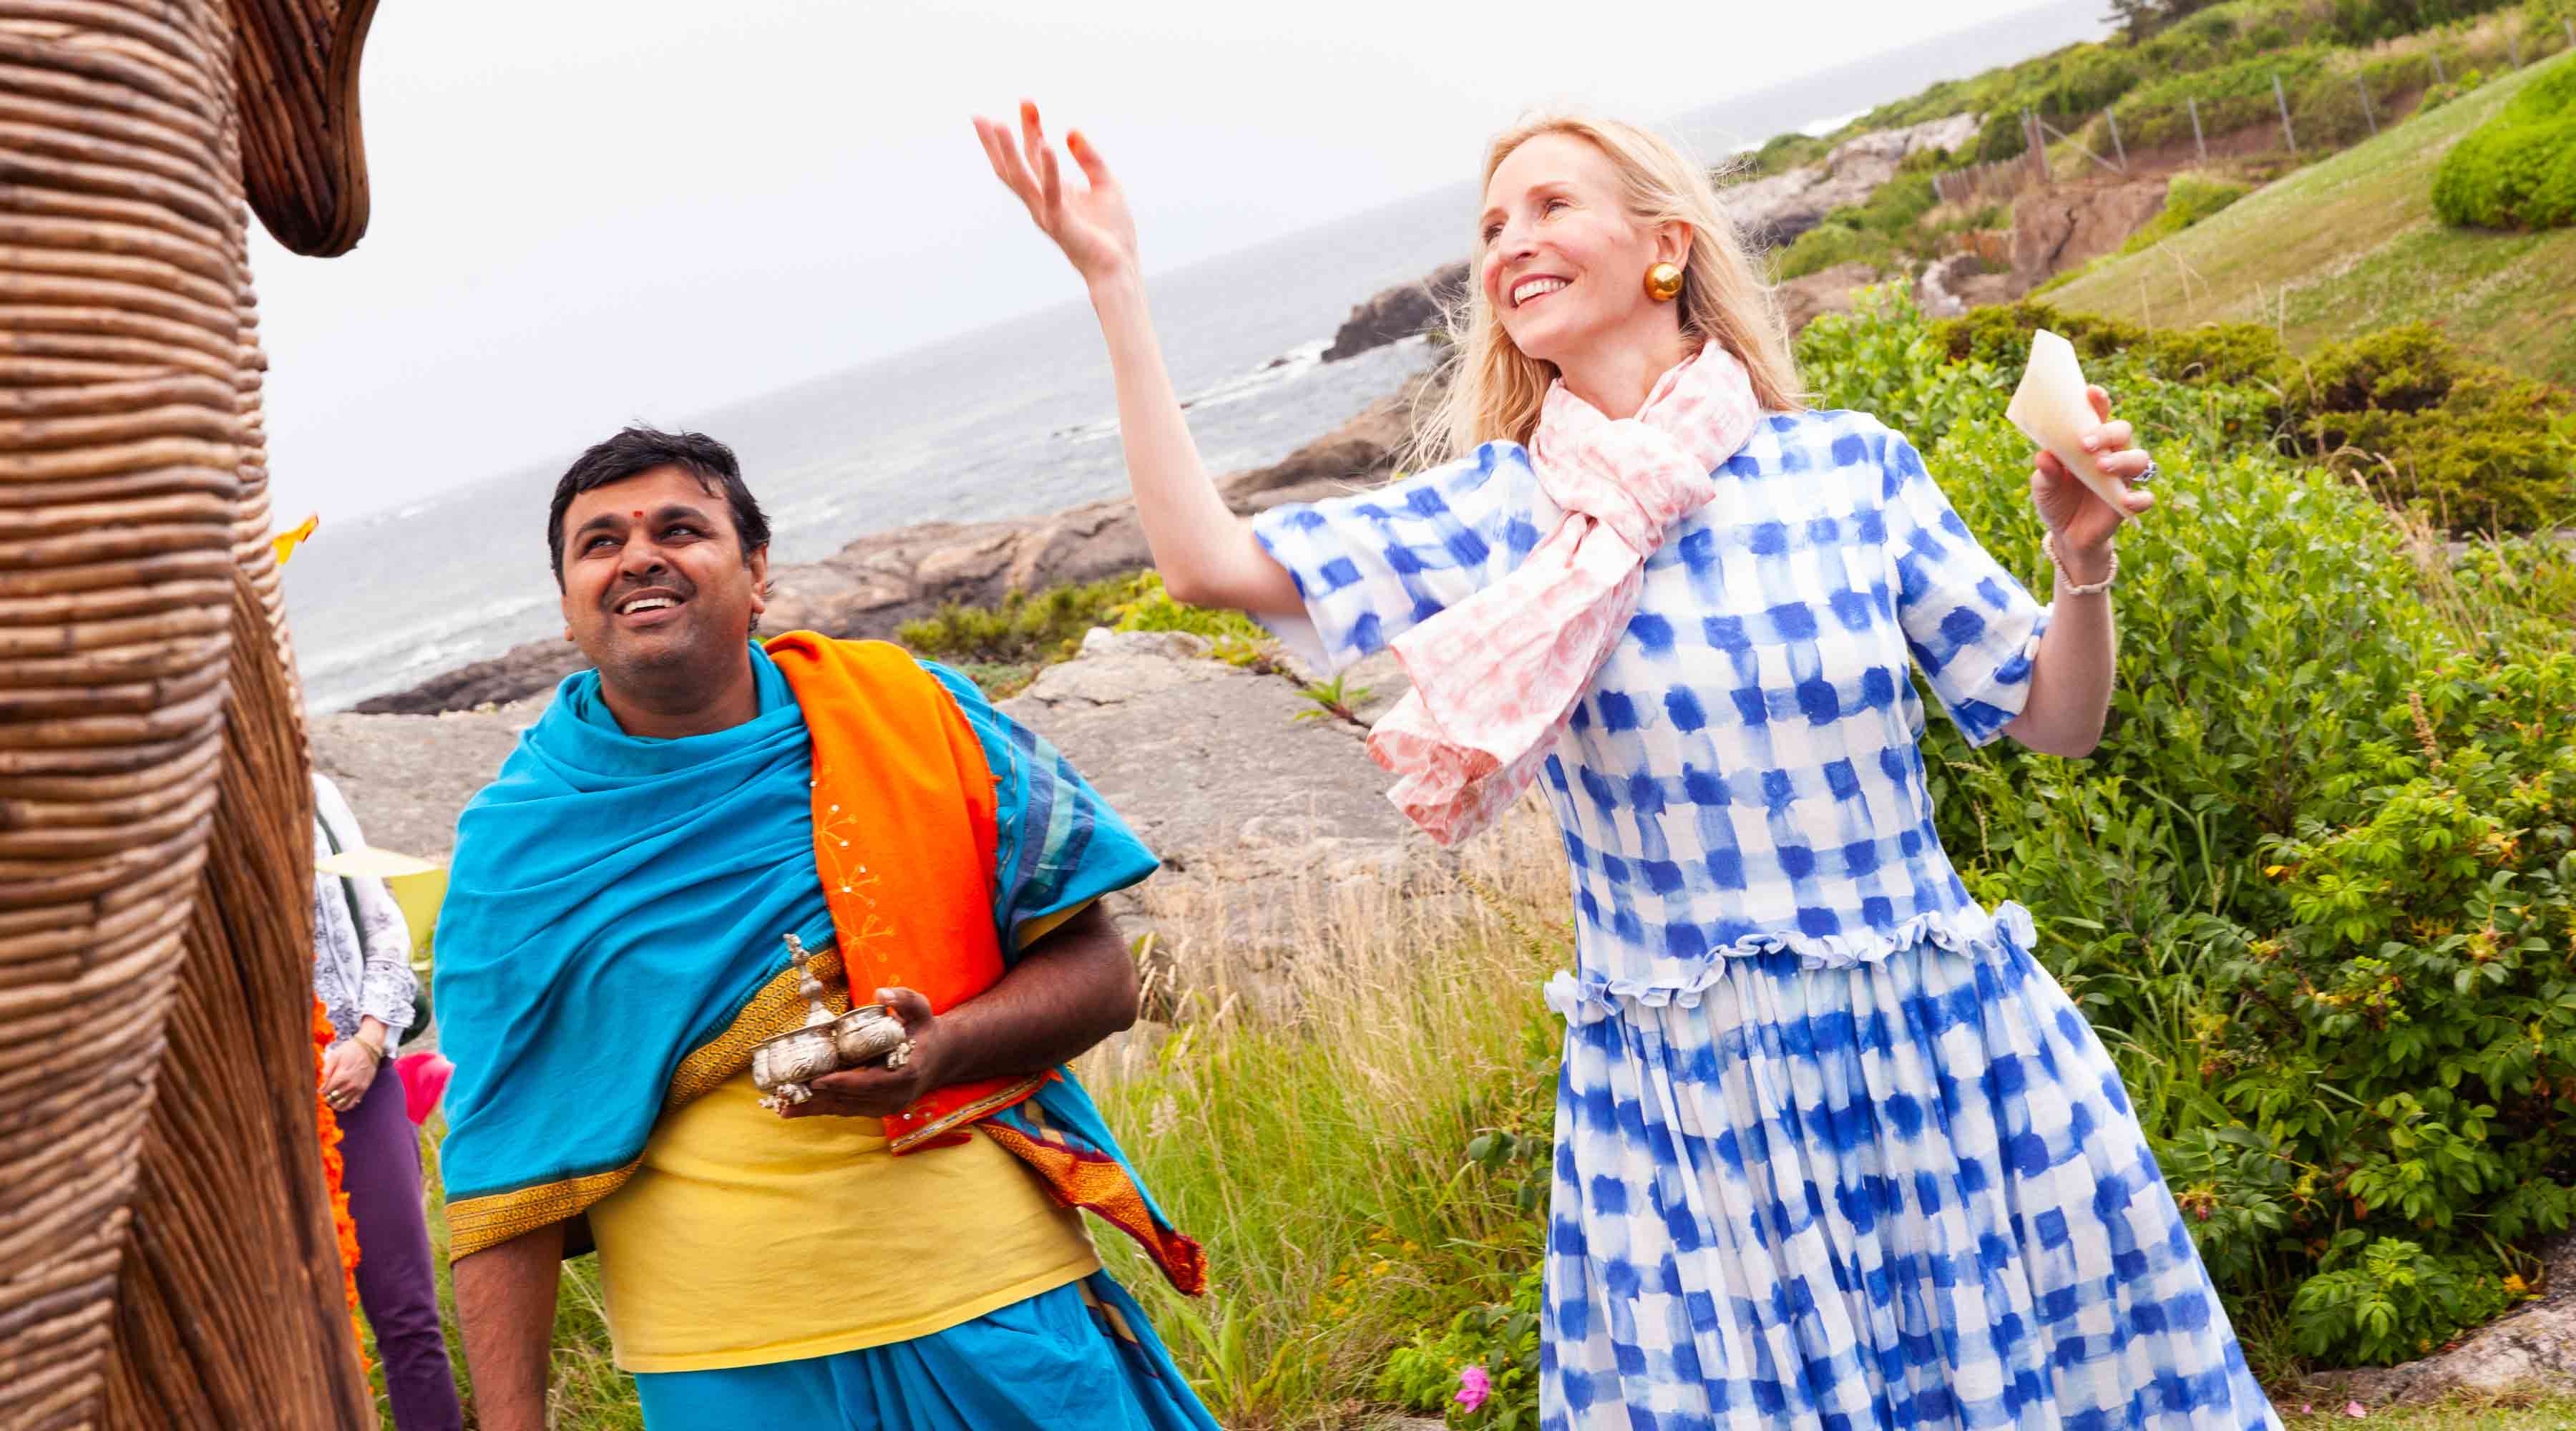
M1023 93L1164 270L1471 178L1533 103L1662 118L2030 3L394 0L366 239L252 250L281 525L1074 299L969 129Z

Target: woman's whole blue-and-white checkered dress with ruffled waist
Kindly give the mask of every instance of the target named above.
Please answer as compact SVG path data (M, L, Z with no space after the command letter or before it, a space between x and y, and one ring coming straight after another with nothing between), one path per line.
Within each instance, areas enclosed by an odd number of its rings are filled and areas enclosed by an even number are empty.
M1646 564L1548 762L1577 965L1543 1426L2277 1428L2102 1045L1932 831L2048 613L1914 448L1772 414ZM1340 667L1556 520L1517 445L1265 512Z

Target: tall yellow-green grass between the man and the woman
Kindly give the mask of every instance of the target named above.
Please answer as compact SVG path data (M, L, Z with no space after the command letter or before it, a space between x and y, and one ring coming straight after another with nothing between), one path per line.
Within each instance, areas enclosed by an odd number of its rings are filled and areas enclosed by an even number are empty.
M1084 1063L1164 1210L1211 1253L1188 1305L1126 1248L1226 1426L1337 1426L1386 1351L1538 1256L1512 1176L1468 1168L1486 1127L1543 1140L1558 1022L1540 981L1571 960L1564 860L1533 803L1412 885L1301 880L1149 891L1177 932L1180 1022ZM1224 937L1262 901L1278 947ZM1257 968L1270 963L1270 968Z

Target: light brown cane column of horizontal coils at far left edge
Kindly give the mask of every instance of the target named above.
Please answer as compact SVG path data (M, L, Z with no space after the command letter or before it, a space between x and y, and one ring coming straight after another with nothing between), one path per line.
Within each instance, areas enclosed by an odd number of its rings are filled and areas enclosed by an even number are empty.
M90 1426L224 741L242 201L211 3L0 0L0 1428Z

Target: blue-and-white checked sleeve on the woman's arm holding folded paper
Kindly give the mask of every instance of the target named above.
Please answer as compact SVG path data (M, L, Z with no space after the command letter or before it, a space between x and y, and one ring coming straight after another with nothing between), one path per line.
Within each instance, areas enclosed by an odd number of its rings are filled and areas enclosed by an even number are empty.
M2030 703L2048 607L1976 540L1914 443L1886 432L1883 468L1896 618L1932 695L1968 744L1981 746Z

